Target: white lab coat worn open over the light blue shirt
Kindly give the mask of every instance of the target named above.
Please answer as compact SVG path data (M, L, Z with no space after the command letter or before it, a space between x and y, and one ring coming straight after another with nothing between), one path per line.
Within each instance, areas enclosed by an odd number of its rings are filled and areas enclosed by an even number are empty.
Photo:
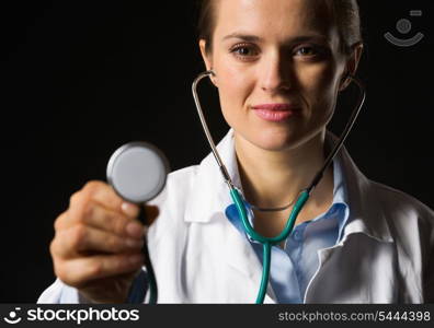
M328 138L333 138L330 133ZM233 131L218 145L240 186ZM416 199L367 179L342 149L350 222L342 241L320 249L305 303L434 302L434 213ZM254 303L262 263L229 222L227 185L209 154L169 175L152 201L160 215L149 230L159 303ZM264 303L275 303L269 283ZM76 303L77 290L56 280L38 303Z

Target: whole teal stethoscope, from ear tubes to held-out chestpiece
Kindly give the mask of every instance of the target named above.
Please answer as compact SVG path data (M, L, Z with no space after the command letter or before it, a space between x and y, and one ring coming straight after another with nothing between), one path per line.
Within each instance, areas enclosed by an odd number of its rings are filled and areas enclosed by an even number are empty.
M206 139L208 140L209 147L213 151L214 157L217 162L217 165L221 172L221 175L225 179L225 183L229 187L230 197L233 203L237 207L238 213L242 220L242 224L245 233L253 239L263 245L263 266L262 266L262 279L261 285L256 297L256 304L261 304L264 301L266 286L269 284L270 278L270 266L271 266L271 249L272 246L277 245L285 241L290 232L294 229L294 224L297 220L298 213L304 208L305 203L309 199L310 194L321 180L321 177L324 171L328 168L330 163L333 161L334 156L342 148L343 142L349 136L353 125L358 116L358 113L362 109L362 106L365 102L366 91L363 86L362 82L355 77L349 75L352 81L356 82L358 87L361 89L361 96L358 99L357 106L354 108L349 122L345 126L344 131L339 138L332 152L326 159L326 162L321 169L316 174L311 184L304 190L301 190L295 201L295 204L290 211L289 219L286 222L284 230L279 235L275 237L264 237L259 234L253 226L250 224L248 220L248 214L245 210L244 203L247 201L241 197L240 191L235 187L228 171L225 164L221 161L221 157L217 151L217 148L214 143L213 137L209 133L208 126L206 124L204 113L201 107L201 103L197 96L197 83L209 75L216 75L213 70L205 71L197 75L197 78L193 81L192 91L194 102L196 104L197 114L201 119L201 124L203 130L205 132ZM119 149L117 149L113 155L111 156L107 164L107 181L114 188L114 190L123 199L142 206L147 201L153 199L158 194L161 192L165 185L165 178L169 173L169 164L164 154L155 145L147 142L130 142L124 144ZM256 208L261 211L279 211L288 208L294 202L289 203L283 208L275 209L262 209L252 206L252 208ZM140 207L142 209L142 207ZM139 220L145 224L145 211L141 210L139 214ZM150 261L148 245L145 241L144 247L141 251L145 255L145 266L147 269L147 279L149 283L149 303L156 304L158 300L158 289L157 289L157 279L153 272L152 263ZM140 297L138 297L140 300Z

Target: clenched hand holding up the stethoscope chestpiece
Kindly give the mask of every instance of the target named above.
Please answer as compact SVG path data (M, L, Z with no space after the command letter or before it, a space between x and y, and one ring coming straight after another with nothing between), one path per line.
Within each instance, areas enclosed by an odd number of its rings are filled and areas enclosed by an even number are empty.
M158 208L145 211L144 223L151 224ZM114 300L113 294L124 300L128 284L123 281L134 279L129 273L144 262L146 227L139 213L137 204L125 202L107 184L88 183L55 221L50 253L56 276L92 300Z

